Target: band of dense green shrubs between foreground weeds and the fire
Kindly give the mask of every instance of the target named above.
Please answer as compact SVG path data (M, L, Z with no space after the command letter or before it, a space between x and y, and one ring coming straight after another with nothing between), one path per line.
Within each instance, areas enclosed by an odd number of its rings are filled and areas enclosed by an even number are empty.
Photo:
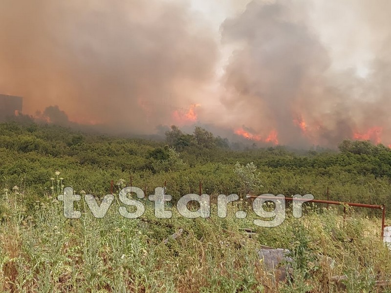
M47 179L59 170L65 186L93 194L106 194L111 180L132 176L148 190L167 181L174 199L197 192L201 181L202 191L212 195L312 193L324 199L328 186L331 200L391 205L391 151L385 146L344 141L340 152L298 154L282 146L237 151L227 145L200 127L186 134L172 126L165 142L155 142L53 125L3 123L0 186L20 185L22 177L30 194L40 197L50 188ZM249 162L258 166L253 173L245 167Z

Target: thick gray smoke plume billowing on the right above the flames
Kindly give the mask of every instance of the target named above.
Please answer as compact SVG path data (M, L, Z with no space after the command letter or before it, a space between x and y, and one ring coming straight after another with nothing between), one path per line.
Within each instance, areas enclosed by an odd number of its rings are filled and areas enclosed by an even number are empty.
M365 28L372 37L367 42L376 58L365 79L353 69L335 69L332 62L338 61L331 59L332 48L311 26L313 7L307 1L252 1L244 13L226 20L223 42L239 43L224 76L229 94L223 103L241 113L233 117L263 138L275 129L280 142L296 146L335 146L346 138L391 143L391 21L385 13L391 11L391 3L379 2L345 3L357 23L364 23L355 33ZM344 8L335 3L328 12L332 16ZM330 23L336 34L343 25Z

